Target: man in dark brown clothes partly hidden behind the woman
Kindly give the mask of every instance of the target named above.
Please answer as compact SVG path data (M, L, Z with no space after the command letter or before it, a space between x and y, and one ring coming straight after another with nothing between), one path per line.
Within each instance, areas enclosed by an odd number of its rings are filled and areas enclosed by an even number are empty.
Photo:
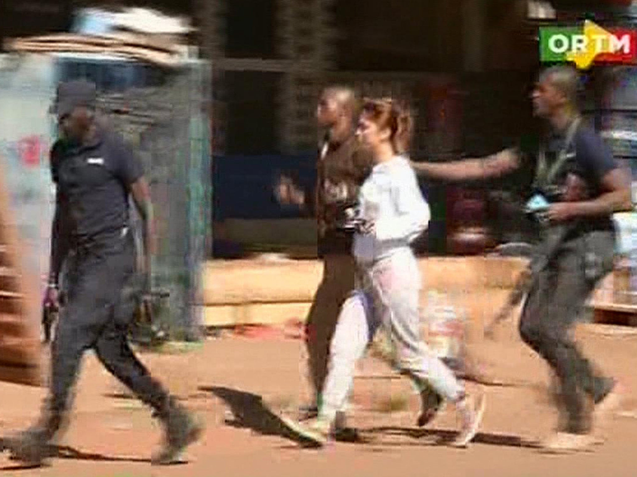
M318 100L317 121L327 130L317 162L317 181L303 191L290 177L278 184L280 202L296 204L317 219L318 256L323 261L323 279L318 286L306 321L306 347L313 403L301 409L301 420L315 418L327 376L329 347L341 305L354 290L352 233L343 230L346 210L355 208L358 192L373 166L355 137L357 99L347 86L326 88ZM440 398L430 389L421 393L419 425L436 414ZM336 417L336 438L349 439L345 414Z

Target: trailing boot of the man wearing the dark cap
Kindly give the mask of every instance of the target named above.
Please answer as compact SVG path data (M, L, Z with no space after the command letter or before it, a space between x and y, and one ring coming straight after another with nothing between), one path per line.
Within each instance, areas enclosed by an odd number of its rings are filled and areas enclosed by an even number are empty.
M180 461L183 450L199 439L204 426L175 399L169 399L163 410L157 411L164 425L162 448L152 458L152 464L166 466Z

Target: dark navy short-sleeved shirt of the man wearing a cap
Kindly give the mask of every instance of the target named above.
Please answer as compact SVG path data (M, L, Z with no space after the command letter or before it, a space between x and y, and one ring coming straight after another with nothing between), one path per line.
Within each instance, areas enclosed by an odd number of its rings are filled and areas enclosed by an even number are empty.
M129 225L129 186L143 169L118 135L98 130L82 146L57 141L50 159L59 207L75 244L106 239Z

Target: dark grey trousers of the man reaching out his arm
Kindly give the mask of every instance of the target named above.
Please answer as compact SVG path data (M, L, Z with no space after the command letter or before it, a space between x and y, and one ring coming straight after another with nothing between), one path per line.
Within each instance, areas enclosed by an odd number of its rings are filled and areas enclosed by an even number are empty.
M585 397L599 403L614 385L583 357L571 333L592 291L612 271L614 245L612 231L587 232L562 242L554 257L535 271L522 311L522 339L547 360L561 385L567 432L587 431Z

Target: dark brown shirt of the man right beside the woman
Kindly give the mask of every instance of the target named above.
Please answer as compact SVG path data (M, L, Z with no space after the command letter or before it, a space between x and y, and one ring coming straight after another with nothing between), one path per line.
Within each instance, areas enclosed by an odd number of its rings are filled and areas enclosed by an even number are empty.
M318 256L352 252L352 234L336 230L336 223L343 209L357 201L371 167L371 156L361 150L354 134L345 141L329 142L326 155L318 159L312 198L318 225Z

